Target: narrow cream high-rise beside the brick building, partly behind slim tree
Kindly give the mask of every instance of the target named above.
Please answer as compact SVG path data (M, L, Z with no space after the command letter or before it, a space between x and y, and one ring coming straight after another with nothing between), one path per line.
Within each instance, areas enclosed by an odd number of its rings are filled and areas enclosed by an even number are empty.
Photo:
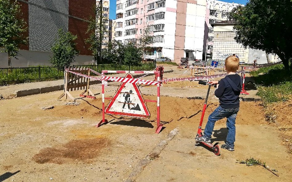
M107 20L106 24L105 24L105 28L107 29L107 32L104 33L104 36L103 36L103 42L102 42L102 46L101 48L104 49L107 47L107 44L108 44L108 41L110 39L110 36L109 36L109 27L110 27L110 23L109 23L109 8L110 8L110 3L109 3L109 0L102 0L102 3L103 3L103 18ZM96 0L96 6L97 7L100 7L100 1L99 0ZM99 19L97 20L99 21Z

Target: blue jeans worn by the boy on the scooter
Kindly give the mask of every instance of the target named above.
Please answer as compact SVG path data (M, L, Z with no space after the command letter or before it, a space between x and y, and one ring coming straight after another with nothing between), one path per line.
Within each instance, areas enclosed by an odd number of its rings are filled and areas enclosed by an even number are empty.
M238 108L234 109L224 109L221 106L218 106L213 113L209 115L208 122L205 126L204 135L206 138L211 138L215 122L222 118L227 118L226 126L227 126L227 138L225 143L229 147L234 147L235 142L235 119L237 112L239 111Z

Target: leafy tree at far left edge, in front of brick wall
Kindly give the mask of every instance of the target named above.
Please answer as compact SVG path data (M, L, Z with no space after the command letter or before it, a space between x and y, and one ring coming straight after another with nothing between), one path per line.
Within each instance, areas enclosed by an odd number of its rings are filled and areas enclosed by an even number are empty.
M0 52L8 54L8 68L11 68L11 57L18 56L20 45L27 43L26 23L21 17L17 1L0 0Z

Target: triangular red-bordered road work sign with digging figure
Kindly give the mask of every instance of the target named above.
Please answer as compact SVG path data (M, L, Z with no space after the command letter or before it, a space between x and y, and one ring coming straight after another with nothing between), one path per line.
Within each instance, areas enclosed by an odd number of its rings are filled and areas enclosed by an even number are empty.
M128 73L125 78L133 78ZM136 83L122 83L105 109L107 114L149 118L150 113Z

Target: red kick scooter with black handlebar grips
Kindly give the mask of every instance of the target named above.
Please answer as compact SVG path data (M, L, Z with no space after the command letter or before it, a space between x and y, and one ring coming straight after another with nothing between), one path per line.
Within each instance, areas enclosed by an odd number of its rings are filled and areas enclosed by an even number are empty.
M204 118L204 115L205 115L205 110L206 110L206 107L207 107L207 101L208 101L208 97L209 97L210 88L212 86L210 83L207 83L205 81L199 81L199 84L201 84L201 85L209 85L209 88L208 88L207 96L206 96L206 99L205 99L203 112L202 112L202 116L201 116L201 120L200 120L200 125L199 125L199 128L198 128L198 133L197 133L196 137L201 137L203 135L202 134L202 123L203 123L203 118ZM214 87L216 88L217 85L214 85ZM202 142L202 141L196 141L196 143L203 144L203 145L209 147L214 152L215 155L217 155L217 156L220 155L220 147L218 145L219 142L216 142L214 145L212 143L206 143L206 142Z

